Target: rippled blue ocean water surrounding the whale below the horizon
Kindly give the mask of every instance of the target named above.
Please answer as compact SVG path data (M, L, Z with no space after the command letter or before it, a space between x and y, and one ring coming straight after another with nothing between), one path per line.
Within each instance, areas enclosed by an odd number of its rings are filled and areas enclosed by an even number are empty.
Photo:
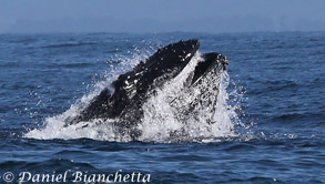
M161 96L136 141L105 125L62 127L120 73L193 38L230 62L213 126L190 122L187 136L169 137L181 125L151 115L169 114ZM0 183L64 173L71 183L77 172L75 183L132 173L162 184L325 183L324 85L325 32L0 34Z

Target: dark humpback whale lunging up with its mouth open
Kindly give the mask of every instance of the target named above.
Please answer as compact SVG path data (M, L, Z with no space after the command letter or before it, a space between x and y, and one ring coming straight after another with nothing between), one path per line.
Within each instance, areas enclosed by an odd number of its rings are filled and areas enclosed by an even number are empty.
M155 95L158 89L182 72L196 54L199 47L199 40L181 40L159 49L131 71L118 76L111 83L113 90L103 89L78 115L67 119L65 126L110 119L114 120L114 126L120 134L128 134L133 140L139 137L141 130L138 129L138 124L141 124L144 115L143 104ZM186 79L186 95L175 95L169 102L171 108L176 110L179 120L186 122L191 116L195 116L197 106L216 102L221 73L226 70L226 58L220 53L202 54L201 61ZM214 85L204 85L206 80L213 81Z

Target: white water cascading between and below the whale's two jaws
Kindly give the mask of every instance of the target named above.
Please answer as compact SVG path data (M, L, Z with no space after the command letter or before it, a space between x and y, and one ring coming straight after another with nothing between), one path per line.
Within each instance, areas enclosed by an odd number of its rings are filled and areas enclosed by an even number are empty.
M194 55L175 79L165 84L163 89L158 90L156 95L144 104L144 119L140 127L143 131L141 141L177 142L235 135L233 120L236 117L236 113L227 104L226 88L230 78L226 72L220 78L206 76L210 80L203 81L201 88L210 91L209 96L202 95L202 91L197 88L186 90L189 89L186 80L201 59L199 53ZM175 94L179 94L176 96L179 102L174 102ZM195 98L204 101L213 98L211 95L217 96L216 103L199 103L191 114L186 114L189 104Z

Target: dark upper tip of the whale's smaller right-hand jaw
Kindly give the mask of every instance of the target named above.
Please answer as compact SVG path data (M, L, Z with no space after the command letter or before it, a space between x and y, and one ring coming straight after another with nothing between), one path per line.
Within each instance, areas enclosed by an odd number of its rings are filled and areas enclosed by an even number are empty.
M194 70L191 84L196 83L203 75L211 72L213 69L219 68L221 71L226 70L228 61L226 57L212 52L202 55L203 61L199 62Z

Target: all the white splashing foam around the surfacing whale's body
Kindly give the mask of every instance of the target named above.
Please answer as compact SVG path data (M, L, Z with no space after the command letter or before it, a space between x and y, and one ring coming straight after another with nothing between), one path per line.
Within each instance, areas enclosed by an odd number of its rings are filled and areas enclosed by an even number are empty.
M48 117L44 121L44 127L29 130L24 136L40 140L88 137L103 141L132 141L129 135L121 135L115 131L112 123L114 120L105 120L104 122L101 120L93 120L91 122L81 122L67 127L64 127L64 120L77 116L103 88L110 85L119 74L130 70L145 57L146 55L135 55L133 59L124 60L124 62L119 65L119 69L116 68L110 71L105 80L98 82L95 89L91 93L82 96L64 113ZM203 88L207 89L209 95L217 96L216 101L214 103L196 105L192 114L184 116L186 112L183 110L187 108L185 104L189 104L195 98L202 98L200 96L202 91L195 88L190 91L185 90L189 75L194 71L201 59L201 54L196 53L175 79L169 81L162 89L156 89L155 95L152 95L152 98L144 103L144 117L142 124L139 124L138 127L142 131L139 141L211 142L217 139L237 136L236 125L241 124L236 113L238 104L228 104L230 95L233 94L228 93L226 90L230 84L230 76L226 72L222 72L220 78L215 78L216 81L204 81ZM215 91L215 89L219 90ZM175 94L177 94L176 98Z

